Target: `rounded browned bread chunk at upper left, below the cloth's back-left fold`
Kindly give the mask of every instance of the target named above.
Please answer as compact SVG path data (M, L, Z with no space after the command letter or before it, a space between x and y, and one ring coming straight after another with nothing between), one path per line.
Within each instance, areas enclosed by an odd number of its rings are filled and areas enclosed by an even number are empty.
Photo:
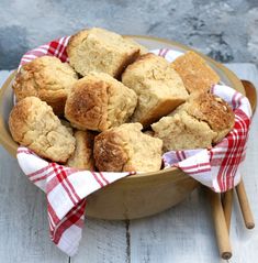
M54 56L42 56L22 66L13 83L16 100L35 96L46 101L58 116L64 114L67 94L77 74Z

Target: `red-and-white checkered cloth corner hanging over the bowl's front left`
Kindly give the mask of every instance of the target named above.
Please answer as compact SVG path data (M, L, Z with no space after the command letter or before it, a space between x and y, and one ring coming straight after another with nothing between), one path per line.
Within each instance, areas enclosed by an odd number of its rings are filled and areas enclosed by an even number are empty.
M18 149L18 162L29 179L46 193L51 238L68 255L76 253L81 239L86 197L132 174L81 172L48 163L26 147Z

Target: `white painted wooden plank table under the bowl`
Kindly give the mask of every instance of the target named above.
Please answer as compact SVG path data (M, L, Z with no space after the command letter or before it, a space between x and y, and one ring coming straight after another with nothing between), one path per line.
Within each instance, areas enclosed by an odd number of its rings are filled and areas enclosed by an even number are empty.
M258 87L251 64L228 64L239 78ZM9 72L0 72L0 85ZM255 219L258 219L258 127L254 118L243 169ZM133 221L88 219L79 252L69 259L48 239L44 194L0 146L0 262L4 263L170 263L221 262L210 204L201 190L160 215ZM246 230L234 202L229 262L258 262L258 228ZM222 261L223 262L223 261Z

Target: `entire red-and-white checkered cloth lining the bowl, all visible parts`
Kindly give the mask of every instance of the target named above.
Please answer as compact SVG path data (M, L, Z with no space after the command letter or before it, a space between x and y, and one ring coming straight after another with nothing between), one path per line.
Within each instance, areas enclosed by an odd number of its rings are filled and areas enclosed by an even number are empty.
M68 37L61 37L27 52L20 67L43 55L67 62ZM154 51L169 62L181 55L169 50ZM216 85L212 92L226 100L235 112L234 130L215 147L168 152L166 167L176 166L215 191L231 189L239 182L238 166L245 157L251 110L248 99L229 87ZM77 171L48 163L26 147L19 147L18 161L31 182L46 193L51 238L57 246L74 255L81 239L87 196L123 178L130 173L97 173Z

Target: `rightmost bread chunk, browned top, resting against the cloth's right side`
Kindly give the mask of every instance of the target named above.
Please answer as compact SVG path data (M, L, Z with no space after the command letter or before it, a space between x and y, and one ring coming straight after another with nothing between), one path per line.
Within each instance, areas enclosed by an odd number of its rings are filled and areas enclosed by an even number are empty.
M152 125L164 150L204 149L220 142L234 127L231 107L212 94L192 94L188 102Z

